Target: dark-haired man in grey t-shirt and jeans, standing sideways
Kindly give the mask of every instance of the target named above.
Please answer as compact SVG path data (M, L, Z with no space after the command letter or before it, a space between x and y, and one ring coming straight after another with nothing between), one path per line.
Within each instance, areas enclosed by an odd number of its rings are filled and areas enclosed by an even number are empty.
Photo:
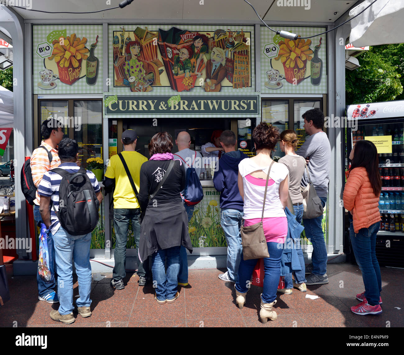
M326 133L322 131L322 127L324 127L324 114L320 109L314 108L306 111L302 117L304 118L303 127L310 136L307 137L296 153L309 161L307 168L309 170L310 180L324 207L327 202L331 159L330 142L328 141ZM307 172L305 171L302 185L306 186L308 180ZM311 264L306 267L306 273L310 274L307 277L307 285L328 283L326 274L327 249L322 228L322 218L323 216L311 219L303 218L306 237L313 244Z

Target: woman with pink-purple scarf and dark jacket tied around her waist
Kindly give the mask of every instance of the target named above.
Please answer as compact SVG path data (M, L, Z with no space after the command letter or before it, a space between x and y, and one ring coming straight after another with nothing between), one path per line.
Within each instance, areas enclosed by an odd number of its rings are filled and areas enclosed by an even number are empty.
M180 192L185 188L185 169L173 161L173 139L168 132L156 133L149 143L150 160L140 169L139 203L142 211L139 259L153 258L151 271L159 304L172 303L178 296L179 250L183 245L192 253L188 216ZM166 180L152 199L160 181ZM142 219L143 218L143 219Z

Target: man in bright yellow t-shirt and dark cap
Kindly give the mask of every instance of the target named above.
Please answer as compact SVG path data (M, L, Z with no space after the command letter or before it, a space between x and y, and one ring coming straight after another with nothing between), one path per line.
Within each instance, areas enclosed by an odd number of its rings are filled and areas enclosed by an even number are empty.
M147 161L147 158L136 152L137 134L133 129L127 129L122 133L122 143L124 152L122 156L128 166L130 175L137 193L140 190L140 167ZM115 231L115 266L113 270L111 286L115 289L125 288L123 279L126 276L126 243L128 241L128 226L132 220L133 234L135 236L136 251L139 249L140 237L140 205L137 201L132 185L125 171L124 165L119 155L113 155L109 159L107 171L105 172L105 188L108 190L115 185L114 191L114 231ZM142 264L137 256L137 275L139 276L139 286L147 283L147 273L149 271L148 260Z

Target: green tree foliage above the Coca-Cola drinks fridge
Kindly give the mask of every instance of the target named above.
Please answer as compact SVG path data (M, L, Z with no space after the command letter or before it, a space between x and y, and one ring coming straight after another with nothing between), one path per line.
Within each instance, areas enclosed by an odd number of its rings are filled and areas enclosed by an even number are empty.
M404 99L404 44L371 46L345 71L346 104Z

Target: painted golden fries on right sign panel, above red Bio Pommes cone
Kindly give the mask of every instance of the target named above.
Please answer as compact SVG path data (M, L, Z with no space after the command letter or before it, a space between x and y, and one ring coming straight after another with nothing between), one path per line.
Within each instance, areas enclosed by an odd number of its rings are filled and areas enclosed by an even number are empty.
M280 41L279 43L279 52L278 57L275 60L281 61L284 63L286 68L303 68L306 59L311 60L313 58L313 51L309 48L311 44L311 40L303 40L301 38L297 38L297 40L288 40Z

